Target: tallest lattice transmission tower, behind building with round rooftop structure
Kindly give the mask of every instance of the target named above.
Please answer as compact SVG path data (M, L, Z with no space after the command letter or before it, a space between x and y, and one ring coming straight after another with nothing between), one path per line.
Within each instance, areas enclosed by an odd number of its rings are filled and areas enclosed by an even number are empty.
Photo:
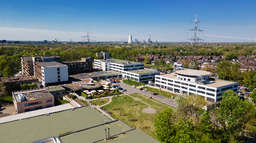
M193 36L192 38L189 38L189 39L186 39L186 40L189 40L189 41L192 42L191 56L192 56L192 58L194 58L194 59L193 59L193 67L192 67L192 68L195 69L195 56L196 56L196 51L197 51L197 49L198 49L198 42L199 42L199 41L202 41L202 40L203 40L203 42L204 42L204 39L201 39L201 38L199 38L199 37L197 36L198 31L203 31L203 30L201 30L201 29L198 29L198 22L201 22L201 21L198 20L198 18L197 18L197 13L196 13L195 20L191 20L191 21L195 22L195 27L192 28L192 29L189 29L190 31L194 31L194 36ZM190 22L191 22L191 21L190 21ZM204 31L203 31L203 32L204 32ZM198 65L196 65L196 66L198 66ZM190 66L190 67L191 67L191 66Z

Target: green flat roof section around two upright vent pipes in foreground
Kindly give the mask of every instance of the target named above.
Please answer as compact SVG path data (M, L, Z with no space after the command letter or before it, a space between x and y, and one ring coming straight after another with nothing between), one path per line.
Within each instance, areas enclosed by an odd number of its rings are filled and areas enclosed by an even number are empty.
M110 128L110 136L120 133L121 129L125 131L132 129L121 121L114 121L108 124L95 126L90 129L85 129L80 132L74 132L69 135L64 135L59 138L61 139L62 143L93 143L97 140L105 138L105 129L107 130L106 134L108 137L108 128Z

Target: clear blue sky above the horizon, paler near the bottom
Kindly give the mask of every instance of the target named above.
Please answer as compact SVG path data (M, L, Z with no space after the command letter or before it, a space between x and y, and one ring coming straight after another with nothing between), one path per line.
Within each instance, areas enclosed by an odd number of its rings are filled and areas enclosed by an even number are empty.
M0 39L81 41L255 42L254 0L0 0ZM191 24L191 25L190 25ZM187 40L188 41L188 40Z

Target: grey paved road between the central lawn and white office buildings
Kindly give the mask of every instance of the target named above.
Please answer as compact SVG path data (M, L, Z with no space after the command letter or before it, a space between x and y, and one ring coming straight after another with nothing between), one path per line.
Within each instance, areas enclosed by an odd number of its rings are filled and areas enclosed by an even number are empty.
M142 91L138 87L133 88L130 85L125 84L123 82L118 83L118 84L120 85L120 87L122 87L123 89L127 90L127 91L124 92L125 95L129 95L129 94L133 94L133 93L140 93L140 94L145 95L147 97L152 97L154 100L162 102L163 104L169 105L171 107L176 108L176 106L177 106L175 104L175 100L166 98L166 97L161 96L161 95L153 95L153 93L150 92L150 91Z

